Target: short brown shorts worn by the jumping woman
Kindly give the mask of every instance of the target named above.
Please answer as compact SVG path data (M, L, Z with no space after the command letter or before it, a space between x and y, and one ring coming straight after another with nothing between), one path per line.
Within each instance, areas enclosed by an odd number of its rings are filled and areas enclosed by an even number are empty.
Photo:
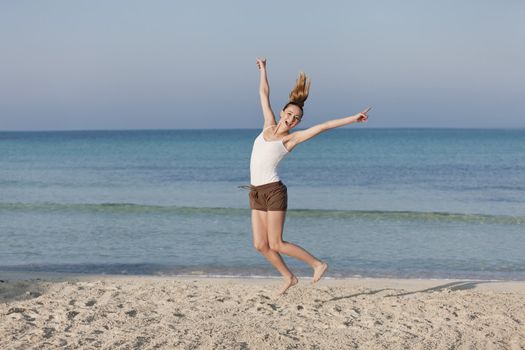
M250 187L250 208L264 211L285 211L288 208L288 189L281 181Z

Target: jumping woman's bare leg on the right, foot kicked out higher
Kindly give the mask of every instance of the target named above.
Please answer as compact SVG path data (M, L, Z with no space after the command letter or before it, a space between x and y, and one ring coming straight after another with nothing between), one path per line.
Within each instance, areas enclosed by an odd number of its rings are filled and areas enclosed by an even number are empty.
M313 282L317 282L328 268L328 264L315 258L298 245L283 241L285 218L286 211L268 211L268 243L270 249L293 256L310 265L314 269Z

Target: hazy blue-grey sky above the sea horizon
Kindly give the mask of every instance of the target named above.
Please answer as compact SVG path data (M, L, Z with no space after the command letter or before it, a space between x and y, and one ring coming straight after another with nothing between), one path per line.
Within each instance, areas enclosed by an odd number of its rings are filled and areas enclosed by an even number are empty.
M524 128L525 2L0 2L0 130L260 128L299 71L299 128ZM345 127L353 127L345 126ZM359 125L358 127L362 127Z

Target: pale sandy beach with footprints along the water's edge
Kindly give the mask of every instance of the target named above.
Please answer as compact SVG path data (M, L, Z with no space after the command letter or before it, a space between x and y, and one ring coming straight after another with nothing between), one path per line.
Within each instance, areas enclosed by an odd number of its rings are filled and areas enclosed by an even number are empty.
M525 347L525 282L0 276L1 349Z

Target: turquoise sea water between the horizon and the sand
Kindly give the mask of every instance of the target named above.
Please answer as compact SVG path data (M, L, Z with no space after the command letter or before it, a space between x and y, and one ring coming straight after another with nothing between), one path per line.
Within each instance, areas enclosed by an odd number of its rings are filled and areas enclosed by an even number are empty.
M277 276L237 187L259 132L0 132L0 270ZM525 130L337 129L280 175L328 276L525 280Z

